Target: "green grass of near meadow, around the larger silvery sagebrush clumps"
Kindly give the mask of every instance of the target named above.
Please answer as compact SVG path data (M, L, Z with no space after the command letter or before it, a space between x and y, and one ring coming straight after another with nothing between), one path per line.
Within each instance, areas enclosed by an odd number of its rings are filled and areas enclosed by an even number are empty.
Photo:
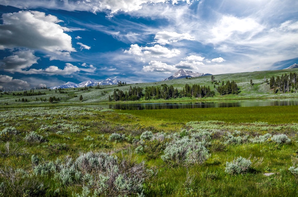
M89 108L35 108L2 111L0 131L5 127L14 126L20 134L12 136L10 143L25 148L28 154L0 156L0 185L1 182L8 180L5 174L9 169L22 168L32 174L34 168L31 162L32 154L38 155L41 162L55 162L57 158L65 160L66 156L76 158L80 153L88 151L113 152L114 155L120 157L122 151L124 155L128 155L129 150L134 151L137 145L128 140L117 143L108 141L111 133L116 132L126 136L131 134L133 138L139 139L142 132L146 130L153 131L153 133L172 134L180 132L181 128L193 127L192 123L186 125L187 122L209 121L199 124L206 129L213 128L213 126L219 128L218 130L223 135L224 132L233 133L239 128L243 128L239 130L239 135L285 133L290 137L291 143L280 145L273 142L228 144L225 149L214 151L212 146L216 140L224 143L219 133L215 133L214 139L210 141L211 145L208 146L211 157L202 165L187 167L165 163L160 157L163 154L162 150L157 151L156 157L153 158L152 156L149 158L149 153L133 154L132 157L137 161L145 161L147 168L153 168L156 171L156 176L144 183L145 196L297 196L297 179L288 171L292 165L291 156L297 154L298 151L297 111L298 106L121 110L121 113L128 114L119 114L119 110L104 112ZM63 128L61 125L66 127ZM71 128L75 126L81 130L80 133L71 132ZM31 131L44 136L47 141L44 143L25 141L24 137ZM63 131L64 134L56 134L58 131ZM84 137L88 135L94 140L84 140ZM1 137L0 139L2 139L0 150L3 152L6 140ZM148 146L151 147L150 143ZM263 157L263 163L243 175L225 173L227 161L231 162L239 156L248 158L250 155L257 158ZM275 174L269 177L264 176L263 173L268 169ZM206 172L215 172L217 176L214 180L206 178L204 176ZM192 176L193 181L187 183L187 177ZM54 191L57 188L60 188L58 196L72 196L72 192L81 192L84 185L83 183L62 185L54 179L54 173L46 176L32 175L26 179L40 180L47 187L44 196L55 196ZM16 182L18 179L15 180ZM91 187L91 192L93 191L94 187Z

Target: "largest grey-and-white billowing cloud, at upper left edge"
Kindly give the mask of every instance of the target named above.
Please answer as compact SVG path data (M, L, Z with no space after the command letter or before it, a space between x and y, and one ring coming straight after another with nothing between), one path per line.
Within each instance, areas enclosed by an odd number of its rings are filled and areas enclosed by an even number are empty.
M24 47L41 50L49 54L69 56L72 37L64 33L70 31L60 26L56 16L38 11L19 11L2 14L0 25L0 49Z

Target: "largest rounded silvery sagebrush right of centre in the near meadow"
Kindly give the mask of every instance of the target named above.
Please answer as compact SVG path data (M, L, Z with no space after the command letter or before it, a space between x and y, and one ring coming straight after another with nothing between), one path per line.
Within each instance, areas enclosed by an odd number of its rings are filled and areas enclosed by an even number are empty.
M210 157L205 142L197 142L195 139L184 137L168 143L161 156L164 162L172 165L202 164Z

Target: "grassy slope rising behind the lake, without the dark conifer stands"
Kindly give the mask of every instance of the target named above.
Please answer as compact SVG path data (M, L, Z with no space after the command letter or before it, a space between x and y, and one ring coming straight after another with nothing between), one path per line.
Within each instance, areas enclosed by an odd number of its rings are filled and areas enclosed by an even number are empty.
M290 72L297 72L298 69L289 69L289 70L276 70L276 71L255 71L255 72L246 72L246 73L234 73L234 74L220 74L215 75L215 80L220 80L221 82L226 82L227 80L234 80L237 82L238 87L240 87L240 93L238 95L224 95L220 96L218 93L213 98L202 98L201 101L204 100L223 100L223 99L255 99L255 98L290 98L290 97L297 97L298 93L286 93L286 94L273 94L273 90L269 89L269 85L263 83L264 76L270 79L271 76L282 75L285 73ZM140 83L140 84L132 84L132 86L139 86L145 88L146 86L157 86L166 83L167 85L173 85L175 88L177 87L178 90L181 90L186 83L192 84L200 84L200 85L210 85L210 88L213 90L213 84L211 84L211 77L210 76L202 76L197 77L194 79L174 79L164 82L150 82L150 83ZM250 85L250 79L253 80L254 86ZM74 90L73 88L69 88L68 94L60 94L55 93L55 90L35 90L35 92L41 91L46 92L46 95L42 96L7 96L3 95L0 97L0 105L4 105L4 103L8 103L10 107L13 106L40 106L40 105L49 105L49 97L55 96L60 97L61 101L56 104L88 104L88 103L104 103L108 102L108 95L112 94L114 88L119 88L120 90L127 91L129 89L128 86L117 87L116 85L109 85L109 86L102 86L104 89L89 89L88 91L80 91L78 92L78 88ZM65 91L65 90L64 90ZM107 91L108 93L102 95L103 91ZM21 91L22 92L22 91ZM16 93L16 92L15 92ZM74 98L74 95L78 97ZM79 101L79 96L83 95L83 102ZM15 102L15 99L19 98L27 98L30 102ZM38 98L38 101L35 99ZM46 98L47 101L43 102L40 101L40 98ZM170 99L167 102L175 102L175 101L190 101L190 98L177 98L177 99ZM193 99L194 101L198 101L198 99ZM163 99L159 100L151 100L151 101L141 101L141 102L165 102ZM52 104L52 105L56 105Z

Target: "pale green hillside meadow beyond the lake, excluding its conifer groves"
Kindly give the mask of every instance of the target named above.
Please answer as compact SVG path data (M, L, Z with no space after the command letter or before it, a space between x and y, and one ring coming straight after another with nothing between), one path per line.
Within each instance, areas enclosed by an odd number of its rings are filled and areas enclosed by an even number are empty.
M182 102L182 101L217 101L217 100L233 100L233 99L268 99L268 98L295 98L298 96L298 91L294 91L293 93L282 93L278 91L276 94L273 93L273 89L270 89L270 86L264 82L264 77L266 79L270 79L271 76L281 76L282 74L289 74L290 72L297 72L298 69L288 69L288 70L276 70L276 71L255 71L255 72L247 72L247 73L234 73L234 74L220 74L214 75L216 81L224 81L227 80L235 81L239 87L238 95L235 94L227 94L220 95L214 88L214 84L211 83L211 76L202 76L195 77L191 79L174 79L169 81L161 81L161 82L150 82L150 83L136 83L136 84L128 84L126 86L117 87L117 85L106 85L101 86L101 89L96 89L96 87L92 87L88 90L81 91L81 88L67 88L61 93L55 90L49 89L41 89L34 90L35 93L38 91L41 94L46 93L45 95L38 96L13 96L13 93L16 95L17 93L23 93L24 90L14 91L10 90L9 95L4 94L3 92L0 95L0 107L19 107L19 106L51 106L51 105L76 105L76 104L94 104L94 103L150 103L150 102ZM250 80L254 85L250 85ZM136 86L142 87L145 91L145 87L148 86L160 86L162 84L173 85L174 88L177 88L178 91L182 90L185 84L194 85L205 85L210 86L211 90L215 90L214 97L207 98L170 98L168 100L164 99L150 99L144 100L142 98L140 101L108 101L109 95L112 95L115 88L118 88L122 91L128 91L129 87ZM27 90L30 92L30 90ZM64 92L64 93L62 93ZM83 100L80 101L80 95L82 95ZM49 103L49 98L54 97L60 98L59 101L54 101L53 103ZM28 102L22 102L22 99L27 99Z

